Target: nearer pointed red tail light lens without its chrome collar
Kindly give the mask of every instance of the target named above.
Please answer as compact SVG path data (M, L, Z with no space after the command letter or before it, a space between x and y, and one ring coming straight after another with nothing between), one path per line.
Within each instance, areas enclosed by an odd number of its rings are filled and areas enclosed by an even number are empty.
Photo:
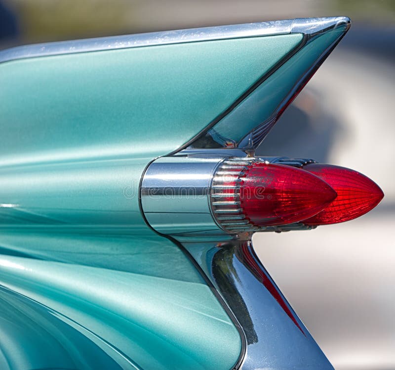
M259 163L241 177L243 214L254 226L285 225L313 216L336 198L324 181L298 168Z

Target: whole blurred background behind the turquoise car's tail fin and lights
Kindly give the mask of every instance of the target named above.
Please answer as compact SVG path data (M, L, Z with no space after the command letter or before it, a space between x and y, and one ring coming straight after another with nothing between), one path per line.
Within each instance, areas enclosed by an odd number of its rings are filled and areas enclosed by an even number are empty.
M261 233L257 254L338 370L395 369L395 0L0 0L0 48L138 32L347 15L351 30L260 155L356 169L385 198L314 231Z

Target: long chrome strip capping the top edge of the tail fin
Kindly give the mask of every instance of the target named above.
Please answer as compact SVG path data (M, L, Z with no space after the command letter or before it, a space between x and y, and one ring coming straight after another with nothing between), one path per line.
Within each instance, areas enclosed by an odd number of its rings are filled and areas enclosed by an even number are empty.
M74 54L141 46L284 35L289 33L314 35L328 27L337 27L344 21L345 17L297 18L16 46L0 51L0 63L40 56Z

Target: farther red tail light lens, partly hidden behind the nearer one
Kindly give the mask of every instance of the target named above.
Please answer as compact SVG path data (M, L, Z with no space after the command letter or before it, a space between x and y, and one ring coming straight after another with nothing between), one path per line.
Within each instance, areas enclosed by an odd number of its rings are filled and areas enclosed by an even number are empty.
M304 170L320 177L337 192L337 198L306 225L336 224L353 220L369 212L384 197L383 191L368 177L345 167L309 164Z

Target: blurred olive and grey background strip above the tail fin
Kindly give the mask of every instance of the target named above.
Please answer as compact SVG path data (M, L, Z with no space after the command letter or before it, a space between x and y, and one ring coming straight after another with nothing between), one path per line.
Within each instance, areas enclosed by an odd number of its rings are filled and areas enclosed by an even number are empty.
M294 17L395 25L395 0L4 0L24 43Z

